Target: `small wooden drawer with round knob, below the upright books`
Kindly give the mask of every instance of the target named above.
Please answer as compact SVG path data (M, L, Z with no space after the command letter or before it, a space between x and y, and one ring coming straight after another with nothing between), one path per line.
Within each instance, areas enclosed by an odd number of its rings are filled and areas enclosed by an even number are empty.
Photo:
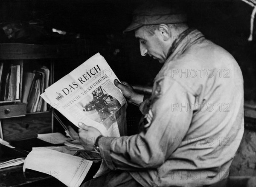
M0 105L0 119L24 116L26 114L26 104L24 103L11 103Z

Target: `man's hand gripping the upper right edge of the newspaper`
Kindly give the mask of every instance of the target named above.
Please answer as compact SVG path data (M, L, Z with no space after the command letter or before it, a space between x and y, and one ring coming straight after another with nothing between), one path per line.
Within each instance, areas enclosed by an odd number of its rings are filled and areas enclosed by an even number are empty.
M114 84L122 91L122 94L125 96L128 103L140 105L140 103L143 102L144 95L135 92L131 85L129 85L127 82L122 81L122 83L120 83L117 79L115 79Z

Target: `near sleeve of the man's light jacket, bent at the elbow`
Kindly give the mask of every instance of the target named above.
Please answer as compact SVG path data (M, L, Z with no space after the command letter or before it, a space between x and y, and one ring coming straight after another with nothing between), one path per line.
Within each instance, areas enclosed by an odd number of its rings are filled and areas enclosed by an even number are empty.
M186 135L193 114L188 106L195 102L195 97L171 78L162 78L156 84L149 110L152 118L142 132L100 139L99 149L110 169L159 167Z

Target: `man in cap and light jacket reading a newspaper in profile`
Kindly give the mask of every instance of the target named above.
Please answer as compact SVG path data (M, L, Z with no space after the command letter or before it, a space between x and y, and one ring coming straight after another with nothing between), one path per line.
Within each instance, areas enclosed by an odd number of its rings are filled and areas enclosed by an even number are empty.
M243 79L236 60L189 28L186 16L172 7L138 8L125 31L135 31L141 55L163 68L148 99L128 83L115 82L145 115L139 134L104 137L79 124L80 138L96 144L112 170L84 186L195 187L226 178L244 129ZM98 138L86 142L87 137Z

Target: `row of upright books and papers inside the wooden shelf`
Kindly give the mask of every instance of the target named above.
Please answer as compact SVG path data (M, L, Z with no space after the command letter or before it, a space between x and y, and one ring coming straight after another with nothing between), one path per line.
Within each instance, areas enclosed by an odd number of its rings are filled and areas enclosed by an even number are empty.
M47 103L40 95L49 87L49 77L46 66L23 73L23 62L19 65L0 63L0 103L25 103L27 113L47 111Z

